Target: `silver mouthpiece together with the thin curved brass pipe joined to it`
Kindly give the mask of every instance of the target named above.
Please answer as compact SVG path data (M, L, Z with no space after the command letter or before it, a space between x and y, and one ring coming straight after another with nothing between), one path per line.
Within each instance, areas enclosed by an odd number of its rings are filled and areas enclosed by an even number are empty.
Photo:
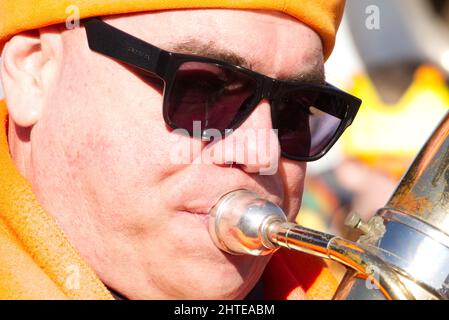
M215 245L234 255L264 256L284 247L338 261L365 275L379 271L373 281L391 299L413 299L395 271L356 243L289 223L281 208L254 192L226 194L209 212L209 233ZM372 276L371 276L372 278Z

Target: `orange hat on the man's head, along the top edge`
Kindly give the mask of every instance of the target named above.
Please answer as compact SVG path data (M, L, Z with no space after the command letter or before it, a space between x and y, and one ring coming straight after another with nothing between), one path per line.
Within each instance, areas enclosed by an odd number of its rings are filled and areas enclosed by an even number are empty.
M22 31L63 23L70 6L80 18L141 11L194 8L276 10L314 29L329 57L341 21L345 0L0 0L0 52L6 41Z

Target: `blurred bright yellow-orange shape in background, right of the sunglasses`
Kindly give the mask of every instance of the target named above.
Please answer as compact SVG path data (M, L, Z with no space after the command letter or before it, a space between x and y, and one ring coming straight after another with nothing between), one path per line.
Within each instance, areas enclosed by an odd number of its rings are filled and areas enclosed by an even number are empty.
M420 66L396 104L386 104L366 75L354 77L352 94L363 99L354 124L342 137L345 155L399 178L449 107L444 75Z

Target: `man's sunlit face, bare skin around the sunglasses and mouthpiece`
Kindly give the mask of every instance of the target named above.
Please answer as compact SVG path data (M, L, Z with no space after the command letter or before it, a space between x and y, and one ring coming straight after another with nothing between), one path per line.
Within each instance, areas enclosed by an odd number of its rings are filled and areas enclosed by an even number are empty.
M104 20L163 49L233 53L273 78L322 74L318 35L278 13L182 10ZM83 28L64 32L62 41L58 77L30 135L26 175L44 208L100 279L128 298L243 298L269 258L221 252L207 212L243 188L293 219L305 164L281 158L277 143L211 146L179 136L163 120L157 81L90 51ZM248 128L271 129L267 101L233 134ZM194 159L229 150L210 164L176 164L171 155L180 145L197 150ZM246 163L236 156L242 150L271 154L278 170L260 175L267 163Z

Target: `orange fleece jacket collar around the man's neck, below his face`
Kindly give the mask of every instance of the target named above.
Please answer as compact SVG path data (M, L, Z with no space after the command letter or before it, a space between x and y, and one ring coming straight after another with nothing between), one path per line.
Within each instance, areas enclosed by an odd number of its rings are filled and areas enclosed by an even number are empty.
M7 129L0 101L0 299L113 299L16 169ZM269 299L330 299L337 286L321 259L284 251L263 280Z

